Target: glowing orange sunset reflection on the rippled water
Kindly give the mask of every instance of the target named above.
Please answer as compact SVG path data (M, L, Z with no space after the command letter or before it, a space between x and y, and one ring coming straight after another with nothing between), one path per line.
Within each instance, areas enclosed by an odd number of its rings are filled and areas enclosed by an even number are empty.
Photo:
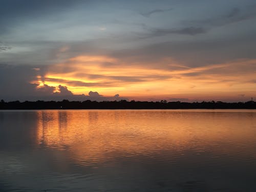
M253 148L243 146L254 142L256 123L255 112L218 110L53 110L37 116L38 144L67 150L82 164L164 151L247 153Z

